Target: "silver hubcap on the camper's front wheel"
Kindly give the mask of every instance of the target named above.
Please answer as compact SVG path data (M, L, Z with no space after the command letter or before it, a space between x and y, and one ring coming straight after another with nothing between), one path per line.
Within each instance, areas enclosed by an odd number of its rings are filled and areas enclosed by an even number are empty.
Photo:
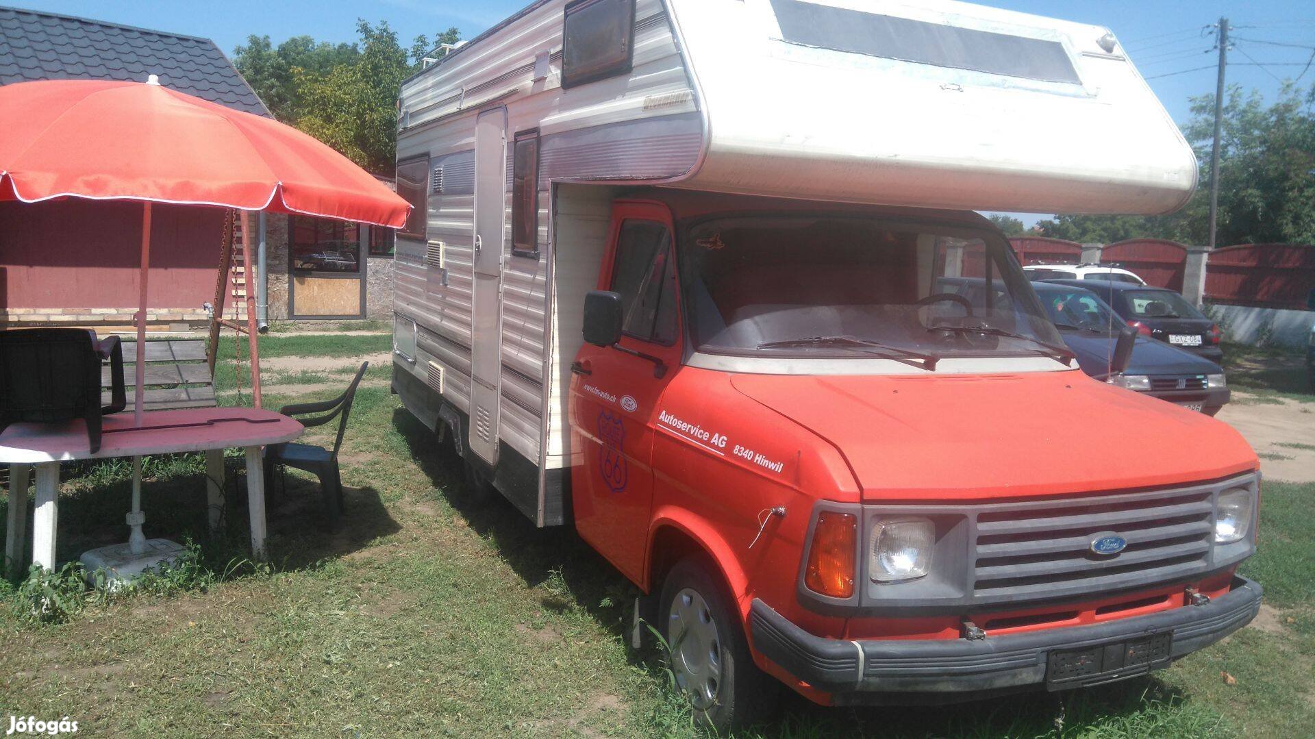
M713 611L698 590L676 593L667 615L667 638L676 684L689 693L696 709L710 709L722 685L722 642Z

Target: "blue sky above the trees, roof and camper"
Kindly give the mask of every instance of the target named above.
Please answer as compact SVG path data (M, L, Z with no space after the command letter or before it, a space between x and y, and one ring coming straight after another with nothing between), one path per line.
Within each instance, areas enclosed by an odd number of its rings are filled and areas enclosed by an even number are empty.
M309 34L325 41L355 41L358 17L387 20L404 45L417 34L433 37L455 25L471 38L529 0L0 0L22 8L213 38L225 54L249 34L275 43ZM1189 117L1187 99L1214 92L1215 54L1201 29L1220 16L1233 26L1228 82L1260 89L1266 97L1281 79L1297 78L1315 51L1315 3L1310 0L985 0L982 4L1057 18L1099 24L1114 30L1174 120ZM1285 46L1287 45L1287 46ZM1264 64L1264 66L1260 66ZM1174 74L1182 72L1182 74ZM1168 75L1168 76L1157 76ZM1315 83L1315 64L1301 79ZM1024 218L1031 221L1032 218Z

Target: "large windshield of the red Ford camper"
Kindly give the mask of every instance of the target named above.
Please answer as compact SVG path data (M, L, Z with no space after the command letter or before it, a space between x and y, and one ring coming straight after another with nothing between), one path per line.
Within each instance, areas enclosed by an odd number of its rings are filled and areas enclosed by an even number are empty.
M722 217L685 229L680 266L701 352L882 356L932 368L947 356L1066 351L1009 245L985 230Z

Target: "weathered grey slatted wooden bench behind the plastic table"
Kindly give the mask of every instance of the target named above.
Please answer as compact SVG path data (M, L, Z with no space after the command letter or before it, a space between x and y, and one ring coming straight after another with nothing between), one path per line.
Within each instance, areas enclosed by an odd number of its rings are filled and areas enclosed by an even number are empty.
M137 342L124 342L124 384L128 391L128 408L132 413L133 391L137 387ZM109 367L100 371L100 387L104 402L109 402ZM146 394L145 410L170 410L175 408L212 408L214 401L214 377L205 362L204 339L158 339L146 341Z

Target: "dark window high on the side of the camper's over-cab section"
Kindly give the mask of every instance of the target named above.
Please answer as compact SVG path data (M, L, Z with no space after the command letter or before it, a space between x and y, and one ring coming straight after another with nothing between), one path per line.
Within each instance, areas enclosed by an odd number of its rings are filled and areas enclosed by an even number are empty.
M635 0L577 0L567 5L562 87L630 72Z

